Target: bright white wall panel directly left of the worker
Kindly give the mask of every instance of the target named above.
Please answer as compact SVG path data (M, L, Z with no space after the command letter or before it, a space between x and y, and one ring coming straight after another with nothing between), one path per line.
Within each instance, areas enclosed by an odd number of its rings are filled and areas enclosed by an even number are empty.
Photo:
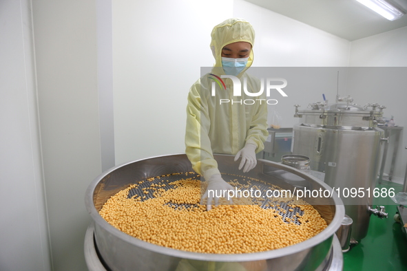
M216 8L214 8L216 7ZM184 153L187 94L233 1L112 1L116 164Z

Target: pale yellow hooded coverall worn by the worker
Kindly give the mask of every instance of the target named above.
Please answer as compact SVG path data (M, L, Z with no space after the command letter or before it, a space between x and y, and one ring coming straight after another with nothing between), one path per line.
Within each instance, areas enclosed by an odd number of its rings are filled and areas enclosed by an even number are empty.
M222 68L222 48L230 43L245 41L251 44L251 52L247 66L238 78L243 87L247 79L249 92L260 90L260 80L249 76L246 70L253 63L254 30L250 23L243 19L228 19L213 28L211 33L211 50L216 63L211 74L225 74ZM209 180L219 173L218 164L213 159L213 153L235 155L246 143L255 144L258 153L264 149L263 142L269 135L267 131L266 96L247 96L243 89L242 96L233 96L233 83L230 78L223 78L226 89L216 85L215 96L211 95L213 76L205 74L192 85L188 94L187 128L185 133L186 153L196 173ZM228 99L232 102L223 102ZM244 100L256 100L253 105L244 105ZM259 100L262 99L262 102ZM239 102L239 101L242 102ZM248 102L251 103L251 102Z

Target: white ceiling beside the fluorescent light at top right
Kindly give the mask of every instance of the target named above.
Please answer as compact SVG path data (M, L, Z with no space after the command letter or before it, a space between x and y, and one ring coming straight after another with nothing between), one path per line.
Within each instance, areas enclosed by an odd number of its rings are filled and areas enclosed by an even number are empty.
M348 41L407 26L407 14L388 21L356 0L246 0ZM407 0L388 0L407 13Z

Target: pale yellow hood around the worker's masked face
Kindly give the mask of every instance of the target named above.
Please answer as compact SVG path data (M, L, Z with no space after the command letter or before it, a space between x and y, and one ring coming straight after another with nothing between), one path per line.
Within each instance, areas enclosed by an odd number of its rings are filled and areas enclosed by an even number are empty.
M211 50L215 57L214 67L222 67L222 48L230 43L245 41L251 44L249 60L247 66L240 73L242 74L253 63L254 30L251 24L244 19L227 19L216 25L211 32ZM222 69L223 71L223 69Z

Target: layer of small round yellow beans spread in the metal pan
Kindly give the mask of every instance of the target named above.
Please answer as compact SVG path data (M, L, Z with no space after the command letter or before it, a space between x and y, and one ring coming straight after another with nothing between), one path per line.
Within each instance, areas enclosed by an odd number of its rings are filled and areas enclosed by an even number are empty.
M207 211L199 204L201 183L194 177L171 182L174 188L167 190L165 184L152 182L143 188L142 195L128 198L129 191L142 183L110 197L99 213L118 230L158 246L216 254L262 252L300 243L327 226L317 210L301 199L288 201L290 211L299 207L295 210L301 212L285 221L279 214L284 210L275 202L271 208L262 208L235 198L235 205L219 205Z

